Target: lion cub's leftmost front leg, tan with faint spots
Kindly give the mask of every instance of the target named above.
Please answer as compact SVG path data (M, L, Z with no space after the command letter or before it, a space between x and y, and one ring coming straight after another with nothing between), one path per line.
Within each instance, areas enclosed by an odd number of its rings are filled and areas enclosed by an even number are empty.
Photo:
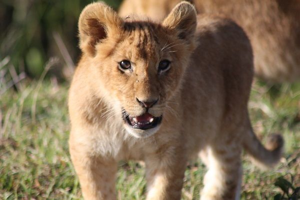
M70 145L69 150L84 199L116 199L115 174L117 163L112 159L90 156L80 151L78 146Z

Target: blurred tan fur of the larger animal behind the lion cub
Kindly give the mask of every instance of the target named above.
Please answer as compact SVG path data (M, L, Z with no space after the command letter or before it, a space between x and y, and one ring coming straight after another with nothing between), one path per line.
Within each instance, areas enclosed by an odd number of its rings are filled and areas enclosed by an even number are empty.
M163 20L181 0L125 0L119 14ZM300 80L299 0L193 0L199 13L231 18L247 33L256 76L270 82ZM167 6L165 6L167 5Z

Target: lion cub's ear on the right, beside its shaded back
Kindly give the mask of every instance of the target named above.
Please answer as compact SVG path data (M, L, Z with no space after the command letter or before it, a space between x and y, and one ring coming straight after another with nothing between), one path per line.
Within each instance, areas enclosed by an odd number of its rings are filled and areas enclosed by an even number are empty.
M193 5L185 1L177 4L162 22L163 26L174 31L178 38L189 44L195 40L196 24L196 10Z

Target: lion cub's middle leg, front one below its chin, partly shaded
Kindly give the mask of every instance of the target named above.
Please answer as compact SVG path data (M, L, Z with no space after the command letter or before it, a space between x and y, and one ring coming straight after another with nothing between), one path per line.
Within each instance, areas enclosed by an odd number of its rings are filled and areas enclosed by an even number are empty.
M163 154L147 156L147 200L180 199L186 156L179 149L169 148Z

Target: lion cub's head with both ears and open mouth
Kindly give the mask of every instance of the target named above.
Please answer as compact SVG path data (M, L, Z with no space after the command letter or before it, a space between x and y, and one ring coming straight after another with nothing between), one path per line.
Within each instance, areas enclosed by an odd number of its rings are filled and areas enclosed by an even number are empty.
M79 19L80 49L95 95L119 115L135 137L154 134L195 47L193 6L178 4L161 24L121 19L103 3Z

